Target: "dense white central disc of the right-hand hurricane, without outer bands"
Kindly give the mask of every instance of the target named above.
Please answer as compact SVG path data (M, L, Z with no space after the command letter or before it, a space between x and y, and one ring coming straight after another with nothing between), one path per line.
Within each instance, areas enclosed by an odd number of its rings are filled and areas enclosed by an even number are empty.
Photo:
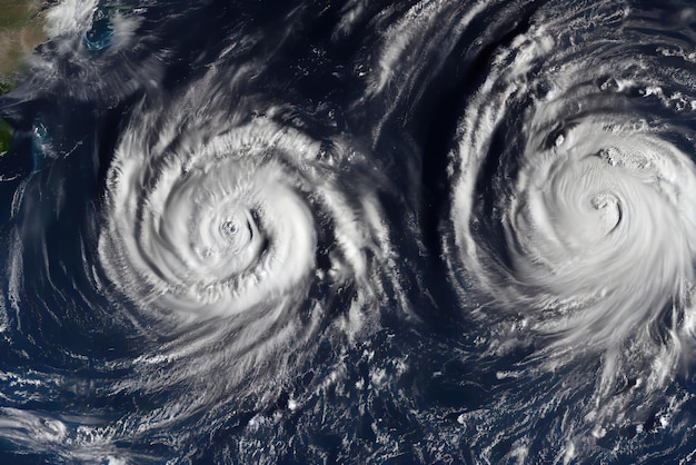
M640 123L600 119L530 138L501 216L516 286L500 297L581 308L546 323L564 345L620 344L693 278L693 164Z

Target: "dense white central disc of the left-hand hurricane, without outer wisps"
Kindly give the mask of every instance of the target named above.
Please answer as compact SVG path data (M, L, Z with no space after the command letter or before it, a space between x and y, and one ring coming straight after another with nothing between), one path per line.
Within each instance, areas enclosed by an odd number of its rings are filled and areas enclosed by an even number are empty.
M136 300L193 316L240 314L306 293L317 180L284 160L308 162L318 145L268 122L190 142L165 148L171 152L148 167L125 140L129 154L119 152L111 169L101 241L111 279Z

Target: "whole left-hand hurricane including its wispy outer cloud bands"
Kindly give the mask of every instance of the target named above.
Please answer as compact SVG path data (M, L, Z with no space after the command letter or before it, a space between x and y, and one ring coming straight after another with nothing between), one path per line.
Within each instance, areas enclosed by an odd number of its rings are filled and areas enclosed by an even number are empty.
M362 156L276 122L277 108L227 110L210 87L143 103L107 174L99 264L152 342L116 389L176 393L133 418L148 429L230 397L272 400L307 362L299 347L351 338L381 295L374 184L341 177Z

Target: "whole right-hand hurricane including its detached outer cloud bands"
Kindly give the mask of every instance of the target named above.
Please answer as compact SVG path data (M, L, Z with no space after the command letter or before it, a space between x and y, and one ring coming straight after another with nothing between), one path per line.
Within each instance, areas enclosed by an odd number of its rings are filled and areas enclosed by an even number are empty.
M624 415L612 403L626 400L608 399L619 380L640 386L626 397L649 398L693 332L696 169L679 103L689 100L662 90L672 70L646 76L659 57L645 46L581 42L545 22L498 51L467 102L446 259L463 299L476 288L490 301L478 315L496 344L524 340L551 368L599 356L587 417Z

